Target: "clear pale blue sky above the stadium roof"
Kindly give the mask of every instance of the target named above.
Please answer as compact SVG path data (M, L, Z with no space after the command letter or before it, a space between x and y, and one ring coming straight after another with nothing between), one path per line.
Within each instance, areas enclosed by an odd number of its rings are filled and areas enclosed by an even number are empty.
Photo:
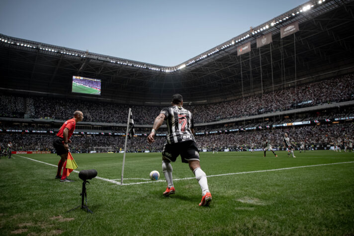
M0 33L177 66L306 0L1 0Z

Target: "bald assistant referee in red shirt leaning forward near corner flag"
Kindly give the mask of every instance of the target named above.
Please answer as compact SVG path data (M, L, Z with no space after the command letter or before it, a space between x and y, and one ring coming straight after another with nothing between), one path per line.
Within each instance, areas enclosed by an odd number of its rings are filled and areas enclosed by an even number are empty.
M58 134L54 138L53 146L57 151L57 155L60 156L61 158L58 163L58 171L55 178L56 179L60 178L61 182L73 182L73 180L69 180L67 178L66 163L67 163L68 152L69 152L68 143L71 143L70 137L73 135L75 131L76 123L82 121L83 119L84 119L84 114L81 111L75 111L74 118L67 120L62 125ZM63 168L63 175L61 175L62 168Z

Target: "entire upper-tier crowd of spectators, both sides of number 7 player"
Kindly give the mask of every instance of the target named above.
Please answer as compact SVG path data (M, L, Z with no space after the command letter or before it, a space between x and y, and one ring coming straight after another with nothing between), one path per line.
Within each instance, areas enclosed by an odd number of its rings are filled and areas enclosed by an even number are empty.
M195 123L258 115L267 112L296 109L354 99L354 75L312 82L289 87L263 95L243 99L188 105ZM26 109L24 109L26 104ZM56 99L47 97L1 96L0 115L16 117L26 111L29 118L67 120L75 110L84 112L84 121L103 123L126 123L129 107L132 108L135 124L153 124L162 107L136 106L115 103L95 103L83 100Z

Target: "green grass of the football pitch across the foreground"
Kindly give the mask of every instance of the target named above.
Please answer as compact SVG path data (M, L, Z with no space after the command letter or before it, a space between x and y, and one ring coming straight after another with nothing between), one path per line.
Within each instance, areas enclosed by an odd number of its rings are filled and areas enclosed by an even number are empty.
M354 161L353 153L333 151L201 153L209 175ZM173 163L176 194L148 179L161 173L161 154L127 154L124 183L100 179L88 184L88 206L81 205L82 180L54 179L56 155L12 155L0 159L0 235L353 235L354 162L243 173L208 178L213 202L199 207L201 190L188 165ZM122 154L74 154L77 170L95 168L99 177L120 181ZM142 178L142 179L129 179Z

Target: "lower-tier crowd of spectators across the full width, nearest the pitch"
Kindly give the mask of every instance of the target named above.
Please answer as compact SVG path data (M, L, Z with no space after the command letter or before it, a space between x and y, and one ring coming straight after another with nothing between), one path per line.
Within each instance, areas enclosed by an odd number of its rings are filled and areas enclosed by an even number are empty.
M197 135L195 140L197 146L203 149L210 149L214 145L219 149L262 146L265 137L273 146L282 147L284 133L288 133L290 140L299 144L305 142L313 144L333 144L338 139L354 139L354 124L323 124L315 126L302 126L298 128L278 128L255 131L239 131L234 133L218 133L213 135ZM0 135L1 147L5 147L11 141L16 151L53 151L54 134L3 134ZM103 135L74 135L71 138L70 148L77 152L93 151L94 147L111 147L112 151L124 149L125 137L103 136ZM130 152L159 152L162 150L166 137L156 137L156 142L148 144L146 136L138 136L129 140L127 148Z

